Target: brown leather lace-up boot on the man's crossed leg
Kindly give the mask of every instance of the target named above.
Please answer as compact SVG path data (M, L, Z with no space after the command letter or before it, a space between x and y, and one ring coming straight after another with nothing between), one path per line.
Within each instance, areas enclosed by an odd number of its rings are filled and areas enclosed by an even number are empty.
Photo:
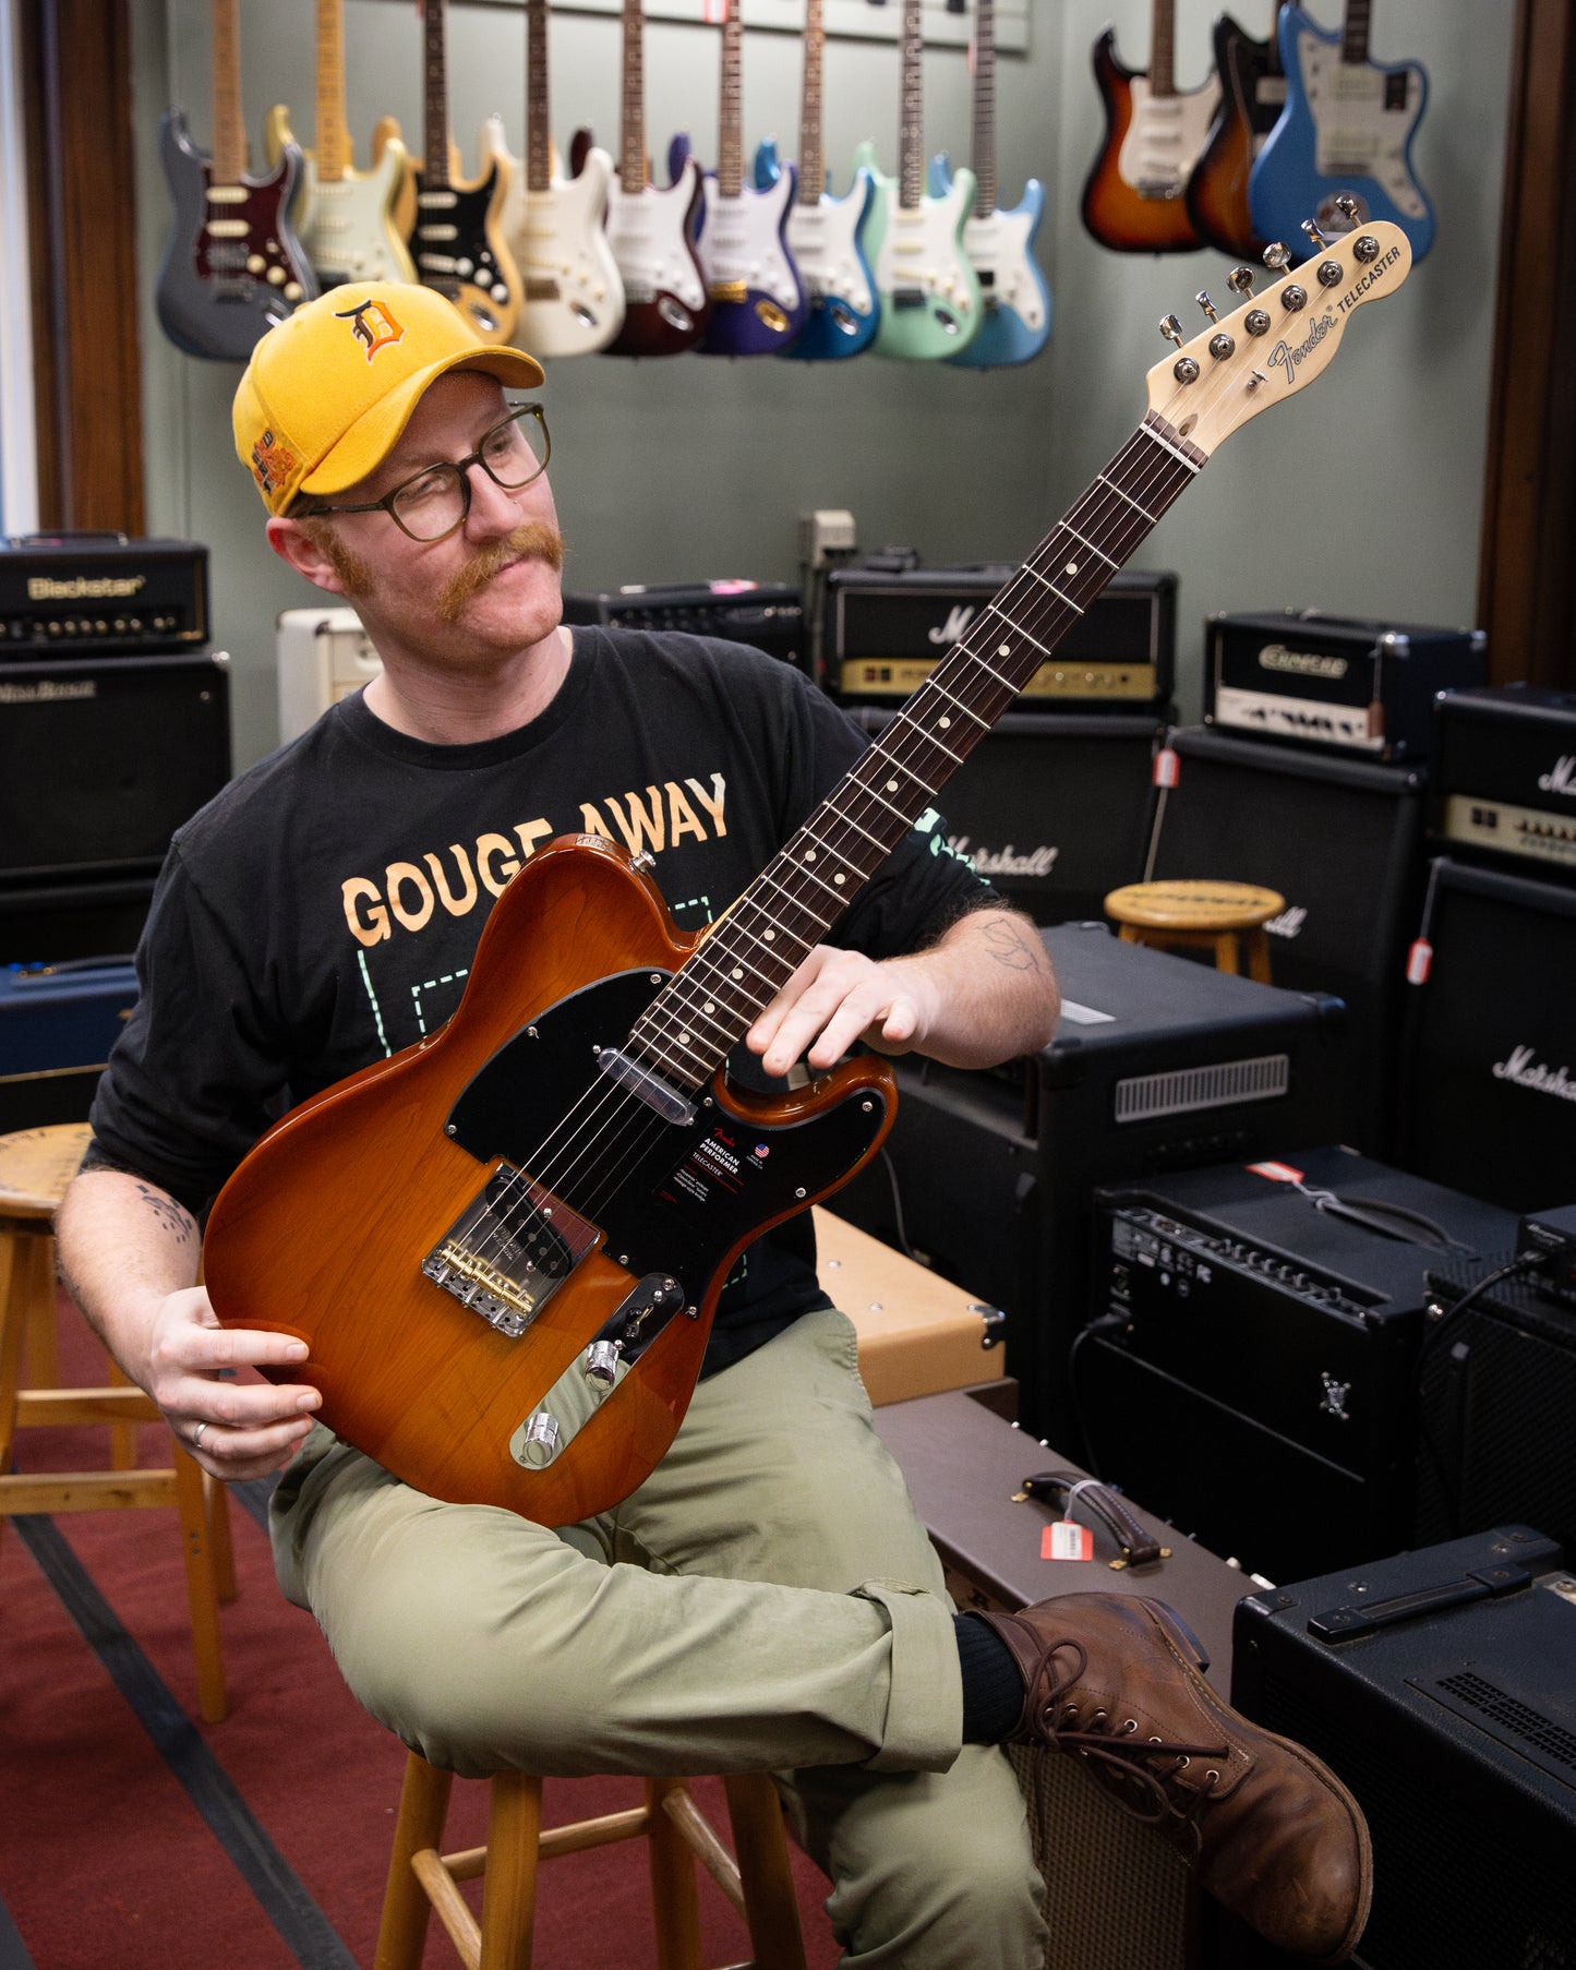
M1198 1862L1227 1909L1282 1950L1346 1962L1373 1893L1361 1806L1302 1745L1219 1698L1162 1602L1064 1594L975 1613L1022 1671L1013 1743L1076 1751L1139 1818Z

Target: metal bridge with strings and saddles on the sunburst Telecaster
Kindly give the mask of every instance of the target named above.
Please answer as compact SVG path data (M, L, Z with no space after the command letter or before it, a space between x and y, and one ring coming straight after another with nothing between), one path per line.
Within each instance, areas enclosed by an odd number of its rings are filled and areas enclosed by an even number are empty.
M502 1164L422 1271L506 1340L518 1340L599 1237L595 1225Z

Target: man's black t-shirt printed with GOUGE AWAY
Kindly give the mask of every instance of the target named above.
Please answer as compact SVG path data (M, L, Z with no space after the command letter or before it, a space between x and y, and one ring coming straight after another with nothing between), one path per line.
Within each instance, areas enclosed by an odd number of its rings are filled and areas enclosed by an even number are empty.
M290 1107L431 1034L481 926L546 841L652 855L682 930L713 922L865 747L788 664L682 634L575 628L532 723L481 745L396 733L361 697L181 827L138 950L140 997L93 1105L91 1160L195 1214ZM997 894L928 814L831 930L890 957ZM707 1369L825 1304L808 1214L749 1247Z

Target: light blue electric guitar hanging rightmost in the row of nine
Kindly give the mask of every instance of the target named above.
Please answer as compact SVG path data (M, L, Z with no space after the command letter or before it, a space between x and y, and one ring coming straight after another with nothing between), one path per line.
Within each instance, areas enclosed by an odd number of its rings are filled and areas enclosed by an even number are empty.
M1030 177L1015 211L997 211L997 47L995 0L975 0L973 124L969 162L973 213L963 223L963 252L979 276L983 315L967 349L948 357L959 368L1005 368L1028 362L1050 341L1050 288L1034 260L1034 234L1046 209L1044 185ZM930 189L946 197L952 169L946 152L930 160Z

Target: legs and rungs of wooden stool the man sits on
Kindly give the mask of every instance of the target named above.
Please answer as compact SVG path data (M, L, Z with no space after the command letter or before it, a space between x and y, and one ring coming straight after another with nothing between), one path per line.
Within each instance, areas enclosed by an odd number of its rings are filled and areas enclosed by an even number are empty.
M542 1779L524 1771L500 1771L489 1779L487 1846L441 1854L453 1773L412 1751L372 1970L420 1970L431 1909L437 1909L467 1970L530 1970L536 1862L642 1836L652 1870L658 1970L699 1970L695 1858L745 1917L755 1970L804 1970L800 1911L776 1789L764 1771L739 1773L723 1785L737 1862L695 1806L684 1779L646 1779L644 1806L544 1832ZM483 1875L481 1923L457 1885L477 1875Z

